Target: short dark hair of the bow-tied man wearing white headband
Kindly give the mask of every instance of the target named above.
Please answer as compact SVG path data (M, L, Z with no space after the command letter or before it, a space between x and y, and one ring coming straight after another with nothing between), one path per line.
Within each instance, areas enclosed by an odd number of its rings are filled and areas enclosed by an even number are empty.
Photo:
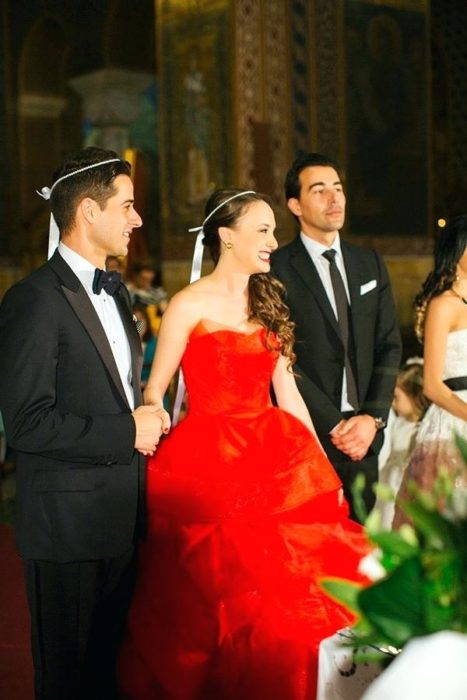
M90 146L69 156L60 170L54 173L53 181L56 182L68 173L112 158L118 160L71 175L54 188L50 204L61 234L73 227L76 208L85 197L94 199L101 209L105 209L107 200L116 192L115 178L119 175L130 175L131 166L127 161L121 160L115 151Z

